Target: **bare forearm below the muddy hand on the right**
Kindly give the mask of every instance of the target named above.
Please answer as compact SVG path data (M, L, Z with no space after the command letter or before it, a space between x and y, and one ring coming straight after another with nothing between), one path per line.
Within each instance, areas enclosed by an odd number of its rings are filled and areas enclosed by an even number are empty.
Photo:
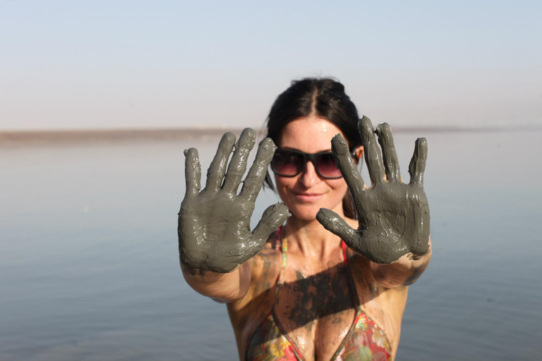
M382 286L394 288L409 286L423 274L431 259L432 247L429 238L429 249L425 255L407 253L390 264L371 262L373 277Z

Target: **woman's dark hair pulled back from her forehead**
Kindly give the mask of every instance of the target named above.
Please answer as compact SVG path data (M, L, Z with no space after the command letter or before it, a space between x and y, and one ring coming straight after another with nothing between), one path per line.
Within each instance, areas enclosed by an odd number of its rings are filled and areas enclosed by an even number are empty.
M267 116L267 137L278 144L282 130L289 122L313 115L325 118L339 128L350 149L361 145L356 106L344 92L344 85L329 78L292 81L271 106ZM269 172L265 176L265 185L275 190ZM342 206L345 216L357 218L350 191L347 191Z

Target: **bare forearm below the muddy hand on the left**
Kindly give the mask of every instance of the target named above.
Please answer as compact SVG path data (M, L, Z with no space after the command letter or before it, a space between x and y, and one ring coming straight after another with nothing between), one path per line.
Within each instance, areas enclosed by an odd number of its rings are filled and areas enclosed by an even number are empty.
M229 273L211 271L200 272L183 267L184 279L196 292L212 298L217 302L234 302L246 295L251 283L251 267L249 262Z

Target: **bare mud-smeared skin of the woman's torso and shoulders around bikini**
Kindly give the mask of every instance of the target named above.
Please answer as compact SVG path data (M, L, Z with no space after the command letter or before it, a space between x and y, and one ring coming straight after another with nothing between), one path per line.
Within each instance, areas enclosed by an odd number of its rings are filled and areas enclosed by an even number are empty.
M353 342L349 334L354 319L366 317L364 322L375 333L385 334L380 338L385 340L380 346L391 349L389 359L393 360L406 304L406 287L383 288L374 281L366 259L348 250L347 264L343 250L337 247L337 257L321 264L319 271L313 269L311 274L303 267L303 259L289 253L275 300L283 260L282 250L273 247L275 242L276 235L265 250L251 259L253 279L247 295L228 305L241 359L246 357L248 346L254 346L251 340L255 332L262 332L264 324L269 329L268 322L276 322L282 331L279 336L284 334L283 339L304 360L332 360L346 341Z

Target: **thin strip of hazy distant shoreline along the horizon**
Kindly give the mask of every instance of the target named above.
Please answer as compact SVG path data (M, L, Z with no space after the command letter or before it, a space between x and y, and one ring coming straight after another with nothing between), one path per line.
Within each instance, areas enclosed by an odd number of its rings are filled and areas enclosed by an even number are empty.
M393 127L394 133L480 133L510 131L510 128ZM220 137L226 132L239 135L242 128L159 128L159 129L88 129L88 130L0 130L0 147L52 145L94 142L141 142ZM265 134L263 129L258 135Z

